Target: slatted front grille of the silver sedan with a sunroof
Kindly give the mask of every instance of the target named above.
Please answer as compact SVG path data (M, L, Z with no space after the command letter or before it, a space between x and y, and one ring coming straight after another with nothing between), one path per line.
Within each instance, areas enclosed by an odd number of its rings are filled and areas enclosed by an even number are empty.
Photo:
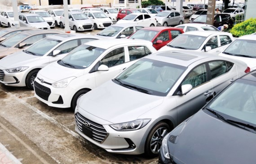
M88 120L79 113L75 114L75 122L78 129L89 138L92 138L94 141L99 143L102 143L105 140L107 132L102 125ZM85 126L85 122L88 126Z

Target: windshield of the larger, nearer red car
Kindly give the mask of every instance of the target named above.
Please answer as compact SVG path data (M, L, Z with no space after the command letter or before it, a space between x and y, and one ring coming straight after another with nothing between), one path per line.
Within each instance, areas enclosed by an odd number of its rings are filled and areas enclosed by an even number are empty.
M135 32L129 39L143 39L151 41L157 33L159 33L159 31L141 29Z

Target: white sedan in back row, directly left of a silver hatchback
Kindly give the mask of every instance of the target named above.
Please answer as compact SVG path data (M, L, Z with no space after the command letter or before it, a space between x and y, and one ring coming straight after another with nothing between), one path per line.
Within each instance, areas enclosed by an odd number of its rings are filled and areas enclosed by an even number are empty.
M145 27L156 26L156 20L154 17L150 17L149 14L145 13L131 13L118 21L116 24L119 23L133 23Z

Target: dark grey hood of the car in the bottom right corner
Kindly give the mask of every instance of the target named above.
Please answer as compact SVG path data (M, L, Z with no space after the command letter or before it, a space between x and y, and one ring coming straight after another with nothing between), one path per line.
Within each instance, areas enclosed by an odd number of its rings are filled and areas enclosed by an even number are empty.
M207 111L206 111L207 112ZM176 164L254 164L256 134L203 110L172 130L169 153ZM210 112L209 112L210 113Z

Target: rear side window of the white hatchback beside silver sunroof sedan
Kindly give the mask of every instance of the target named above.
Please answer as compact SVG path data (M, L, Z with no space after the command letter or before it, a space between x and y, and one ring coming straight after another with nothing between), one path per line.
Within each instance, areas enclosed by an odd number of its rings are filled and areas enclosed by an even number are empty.
M141 57L151 54L150 50L145 46L129 46L130 61L140 59Z

